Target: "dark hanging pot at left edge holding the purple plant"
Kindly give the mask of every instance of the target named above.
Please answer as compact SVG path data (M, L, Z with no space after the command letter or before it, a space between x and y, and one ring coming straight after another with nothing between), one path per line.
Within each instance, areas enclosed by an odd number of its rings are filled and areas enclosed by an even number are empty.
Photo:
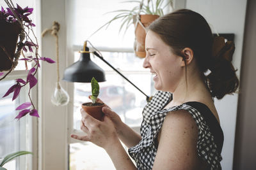
M3 46L13 61L17 41L22 28L19 23L10 23L0 20L0 46ZM0 71L8 71L12 67L12 62L0 47Z

